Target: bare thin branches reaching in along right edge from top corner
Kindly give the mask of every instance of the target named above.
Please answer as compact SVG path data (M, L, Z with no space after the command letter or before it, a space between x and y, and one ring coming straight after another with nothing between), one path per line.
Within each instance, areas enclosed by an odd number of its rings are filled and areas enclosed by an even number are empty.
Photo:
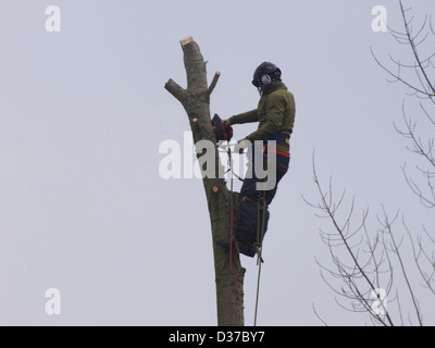
M412 192L419 198L424 208L435 208L435 152L434 137L430 135L424 138L419 129L423 128L427 134L435 134L435 30L432 16L426 15L420 25L413 26L414 16L411 15L411 8L406 9L402 1L399 2L400 13L403 23L401 32L390 29L395 40L410 48L410 62L403 63L390 55L390 61L395 67L393 70L383 65L373 54L377 64L386 71L393 79L391 83L401 83L409 89L409 95L419 101L420 114L408 116L406 102L402 102L403 126L395 124L396 132L409 141L408 150L415 154L422 164L415 166L419 177L415 179L410 176L406 164L402 166L403 176ZM418 123L417 119L420 123ZM420 128L419 128L420 126ZM423 226L425 240L428 241L424 247L422 238L413 240L412 235L403 221L403 226L410 237L414 261L423 277L425 287L435 295L435 239L430 231ZM433 226L435 227L435 226ZM432 231L434 234L434 231Z

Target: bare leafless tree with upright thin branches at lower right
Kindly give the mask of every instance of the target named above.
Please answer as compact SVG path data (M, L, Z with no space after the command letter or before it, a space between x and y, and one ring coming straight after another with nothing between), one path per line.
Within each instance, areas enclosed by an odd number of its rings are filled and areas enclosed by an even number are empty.
M369 313L374 324L402 325L405 320L400 298L403 291L400 293L402 289L397 287L402 282L405 296L412 303L408 320L412 323L417 319L418 324L422 325L422 311L407 270L407 260L400 250L402 237L394 228L398 213L389 217L383 208L382 214L376 216L377 226L373 229L369 227L368 208L356 223L355 197L348 203L348 212L344 213L346 191L336 198L331 178L328 188L323 189L314 159L313 175L321 199L315 204L306 201L318 210L319 217L326 217L332 222L333 229L321 231L320 235L328 247L333 266L326 266L319 261L318 264L325 283L338 295L337 303L352 312ZM339 284L334 279L338 279ZM414 319L411 318L412 312Z

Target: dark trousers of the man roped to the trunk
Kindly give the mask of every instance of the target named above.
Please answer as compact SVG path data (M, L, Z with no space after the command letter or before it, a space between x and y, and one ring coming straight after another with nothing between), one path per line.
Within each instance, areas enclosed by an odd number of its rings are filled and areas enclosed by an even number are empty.
M251 175L245 177L244 185L241 186L240 211L237 225L234 229L234 236L239 244L240 252L248 257L256 256L257 248L254 245L257 243L262 243L262 240L259 240L261 239L261 235L264 238L270 217L268 207L275 197L278 183L287 173L290 161L289 157L276 153L274 161L269 161L268 163L268 153L263 152L262 150L263 149L254 148L254 145L252 145L252 157L247 172ZM254 151L263 152L263 169L268 170L266 179L270 179L270 173L273 173L273 171L271 171L271 166L273 165L276 170L276 179L274 181L275 185L272 189L264 190L264 178L258 177L258 173L256 173ZM265 211L263 211L263 209L265 209Z

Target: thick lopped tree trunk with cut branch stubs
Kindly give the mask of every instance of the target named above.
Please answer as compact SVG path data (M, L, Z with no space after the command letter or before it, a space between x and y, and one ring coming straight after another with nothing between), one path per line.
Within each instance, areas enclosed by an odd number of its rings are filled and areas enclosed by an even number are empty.
M191 37L181 40L184 52L184 64L187 74L187 89L170 79L164 88L171 92L186 110L194 142L210 140L216 144L215 134L210 117L210 95L213 91L220 73L216 72L210 86L207 83L206 62L199 46ZM203 177L203 187L209 207L211 232L213 240L214 272L216 281L217 325L244 325L244 275L239 254L233 252L229 266L229 256L226 250L216 245L216 238L229 240L232 224L231 191L222 175L222 164L216 147L209 149L215 154L215 175ZM201 153L197 153L200 158ZM201 171L204 169L201 167ZM221 173L221 175L219 175ZM239 207L239 195L233 194L234 226ZM229 274L231 269L231 274Z

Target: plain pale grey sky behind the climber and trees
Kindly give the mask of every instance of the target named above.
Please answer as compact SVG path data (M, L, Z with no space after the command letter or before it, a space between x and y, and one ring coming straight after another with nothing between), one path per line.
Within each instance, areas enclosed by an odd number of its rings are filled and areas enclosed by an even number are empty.
M62 13L61 33L45 10ZM221 71L211 112L251 110L250 84L276 63L296 99L290 171L271 206L262 271L260 325L364 324L319 274L330 262L314 216L311 157L326 184L346 188L357 208L400 210L420 233L422 210L400 166L413 165L394 130L407 91L385 82L383 60L407 54L371 28L374 5L401 28L397 1L2 1L0 4L0 324L214 325L209 215L198 179L159 175L161 141L189 130L178 101L185 86L178 40L192 36ZM415 21L433 13L413 3ZM432 7L432 8L431 8ZM409 57L409 55L406 55ZM408 98L407 108L417 102ZM235 126L243 138L256 125ZM423 129L424 130L424 129ZM423 132L424 134L424 132ZM433 217L432 217L433 226ZM246 323L253 319L257 268L243 259ZM415 271L415 270L413 270ZM59 288L62 314L45 312ZM421 302L431 303L421 291ZM432 302L433 303L433 302ZM426 323L432 306L422 306Z

